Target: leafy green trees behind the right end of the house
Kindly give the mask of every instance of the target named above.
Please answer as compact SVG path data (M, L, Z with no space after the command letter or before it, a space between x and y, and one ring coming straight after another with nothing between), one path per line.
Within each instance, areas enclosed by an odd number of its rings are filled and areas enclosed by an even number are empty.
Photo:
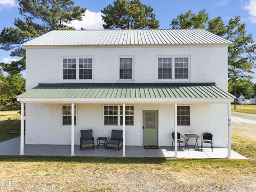
M252 69L256 67L256 44L252 35L246 33L246 26L241 23L239 16L230 18L228 25L225 25L221 17L209 20L205 10L199 11L198 14L188 11L173 19L171 27L175 29L201 28L233 42L228 47L229 91L235 93L236 86L244 87L251 84Z

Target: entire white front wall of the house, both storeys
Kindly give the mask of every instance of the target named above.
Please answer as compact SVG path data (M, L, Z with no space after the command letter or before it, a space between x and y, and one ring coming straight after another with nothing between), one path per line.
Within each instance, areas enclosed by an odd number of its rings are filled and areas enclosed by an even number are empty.
M134 82L156 83L157 55L189 55L189 81L215 82L227 91L227 46L169 46L169 47L76 47L58 49L27 49L26 90L38 83L77 83L62 81L63 56L93 56L94 81L90 83L117 83L119 79L118 56L134 57ZM170 81L173 82L173 81ZM85 83L85 81L79 81ZM81 129L93 129L95 139L110 136L117 126L103 126L101 104L79 104L75 143L79 144ZM159 146L171 145L174 131L174 105L135 105L135 126L127 126L127 145L141 145L141 110L159 109ZM227 147L227 105L191 105L191 126L178 127L180 133L211 132L214 146ZM26 105L27 144L70 144L70 126L61 126L61 105Z

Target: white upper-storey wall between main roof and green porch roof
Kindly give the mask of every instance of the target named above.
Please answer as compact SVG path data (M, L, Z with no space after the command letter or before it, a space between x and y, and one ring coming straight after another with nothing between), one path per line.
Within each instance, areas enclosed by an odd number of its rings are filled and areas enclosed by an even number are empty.
M26 89L29 90L38 83L75 82L61 80L61 57L89 55L94 57L94 83L118 82L118 56L120 55L134 57L135 83L159 82L157 55L190 55L191 79L174 82L215 82L221 89L227 91L226 45L27 49ZM86 81L79 82L84 83Z

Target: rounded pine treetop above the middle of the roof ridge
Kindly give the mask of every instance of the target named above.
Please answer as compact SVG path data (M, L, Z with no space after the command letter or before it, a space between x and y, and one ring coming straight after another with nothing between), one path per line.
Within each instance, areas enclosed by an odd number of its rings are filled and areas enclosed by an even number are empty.
M101 13L104 29L157 29L154 9L144 5L140 0L116 0L109 4Z

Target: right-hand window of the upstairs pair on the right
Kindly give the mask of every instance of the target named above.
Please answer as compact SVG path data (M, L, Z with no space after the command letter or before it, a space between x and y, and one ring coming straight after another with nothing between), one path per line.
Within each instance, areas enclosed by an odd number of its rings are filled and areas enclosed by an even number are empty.
M174 58L175 79L188 79L188 58Z

